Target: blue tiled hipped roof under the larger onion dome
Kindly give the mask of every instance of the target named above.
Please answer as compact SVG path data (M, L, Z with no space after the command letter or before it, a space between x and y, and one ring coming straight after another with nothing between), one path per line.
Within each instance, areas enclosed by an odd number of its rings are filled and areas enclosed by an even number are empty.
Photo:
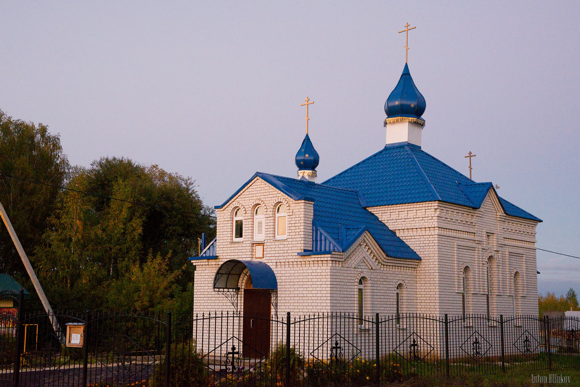
M479 208L493 189L491 183L476 183L410 143L387 144L322 185L361 191L367 207L441 200ZM542 221L503 198L500 201L507 215Z

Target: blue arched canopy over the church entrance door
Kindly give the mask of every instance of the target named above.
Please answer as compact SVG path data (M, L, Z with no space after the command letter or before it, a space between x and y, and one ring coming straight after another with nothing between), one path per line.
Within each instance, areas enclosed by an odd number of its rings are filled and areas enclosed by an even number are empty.
M270 266L260 261L238 261L238 259L229 259L222 263L213 277L213 288L217 290L237 289L240 276L246 268L252 276L254 289L278 290L276 274Z

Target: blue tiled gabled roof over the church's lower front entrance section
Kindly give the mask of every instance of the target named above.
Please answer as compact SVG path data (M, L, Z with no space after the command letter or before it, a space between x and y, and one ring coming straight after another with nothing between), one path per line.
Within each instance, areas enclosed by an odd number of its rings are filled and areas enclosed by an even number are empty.
M372 235L386 255L393 258L421 259L376 215L361 206L357 191L341 189L282 176L259 173L260 178L314 201L313 225L332 238L332 244L346 251L365 230ZM342 234L342 237L341 237Z

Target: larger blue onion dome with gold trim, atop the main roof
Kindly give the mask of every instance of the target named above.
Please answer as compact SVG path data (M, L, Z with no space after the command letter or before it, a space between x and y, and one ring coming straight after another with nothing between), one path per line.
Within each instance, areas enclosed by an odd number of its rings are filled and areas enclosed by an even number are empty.
M421 117L425 113L425 107L425 97L415 86L411 73L409 73L409 66L405 63L403 74L401 74L397 86L391 91L385 102L385 113L387 114L385 125L396 121L412 121L425 125L425 120Z

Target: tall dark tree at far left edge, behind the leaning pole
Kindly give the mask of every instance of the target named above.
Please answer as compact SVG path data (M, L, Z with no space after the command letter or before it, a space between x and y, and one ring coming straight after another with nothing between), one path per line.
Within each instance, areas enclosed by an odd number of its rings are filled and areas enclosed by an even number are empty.
M14 120L0 110L0 172L62 185L67 178L68 159L60 145L59 135L48 132L48 126ZM58 190L0 175L0 202L30 254L41 244L46 219L55 209ZM25 287L31 288L24 265L6 228L0 227L0 273L8 273Z

